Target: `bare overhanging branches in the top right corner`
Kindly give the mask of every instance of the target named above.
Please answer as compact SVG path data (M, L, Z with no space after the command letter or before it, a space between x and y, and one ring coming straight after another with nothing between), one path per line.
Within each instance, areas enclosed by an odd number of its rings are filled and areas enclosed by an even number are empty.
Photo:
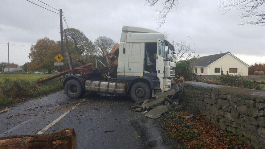
M242 10L241 18L252 20L243 21L242 24L265 25L265 0L219 0L219 8L227 13L231 9Z

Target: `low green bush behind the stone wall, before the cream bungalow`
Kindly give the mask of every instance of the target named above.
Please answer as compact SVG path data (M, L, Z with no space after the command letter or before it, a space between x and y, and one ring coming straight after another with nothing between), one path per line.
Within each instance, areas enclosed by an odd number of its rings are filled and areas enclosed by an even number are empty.
M245 79L237 75L223 75L220 77L223 85L246 88L246 89L259 89L255 80Z

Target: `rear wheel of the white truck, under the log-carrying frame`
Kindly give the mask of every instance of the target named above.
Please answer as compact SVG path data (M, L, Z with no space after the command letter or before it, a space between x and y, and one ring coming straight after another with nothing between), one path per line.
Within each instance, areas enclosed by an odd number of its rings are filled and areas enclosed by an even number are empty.
M64 93L69 98L80 98L84 95L84 89L82 89L79 81L71 79L64 85Z

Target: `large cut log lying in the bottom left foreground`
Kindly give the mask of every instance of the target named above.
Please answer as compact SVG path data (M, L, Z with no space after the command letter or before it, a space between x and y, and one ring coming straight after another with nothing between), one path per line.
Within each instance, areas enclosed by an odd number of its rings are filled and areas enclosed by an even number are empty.
M0 138L0 149L77 149L74 129L64 129L54 134L14 135Z

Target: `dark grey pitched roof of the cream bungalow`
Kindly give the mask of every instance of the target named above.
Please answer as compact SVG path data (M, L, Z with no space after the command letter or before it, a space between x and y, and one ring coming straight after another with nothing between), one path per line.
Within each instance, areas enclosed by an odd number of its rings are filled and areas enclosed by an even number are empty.
M236 58L239 61L241 61L242 63L244 63L242 60L240 60L239 58L237 58L236 56L234 56L230 52L220 53L220 54L214 54L214 55L208 55L208 56L202 56L202 57L200 57L198 59L197 58L193 58L193 59L191 59L191 61L194 60L194 67L198 67L198 66L208 66L208 65L212 64L213 62L215 62L216 60L222 58L226 54L230 54L234 58ZM249 67L248 64L246 64L246 63L244 63L244 64Z

